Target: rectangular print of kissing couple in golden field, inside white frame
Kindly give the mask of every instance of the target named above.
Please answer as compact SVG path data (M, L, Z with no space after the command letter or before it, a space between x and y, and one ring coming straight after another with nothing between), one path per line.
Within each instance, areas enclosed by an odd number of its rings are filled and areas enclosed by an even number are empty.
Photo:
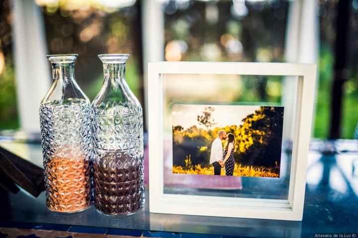
M278 178L283 112L283 106L172 104L172 172Z

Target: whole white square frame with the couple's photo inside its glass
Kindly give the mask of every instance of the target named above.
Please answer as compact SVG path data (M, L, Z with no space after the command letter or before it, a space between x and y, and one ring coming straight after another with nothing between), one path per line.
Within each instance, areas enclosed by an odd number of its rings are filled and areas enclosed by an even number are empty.
M148 70L150 212L302 220L315 65Z

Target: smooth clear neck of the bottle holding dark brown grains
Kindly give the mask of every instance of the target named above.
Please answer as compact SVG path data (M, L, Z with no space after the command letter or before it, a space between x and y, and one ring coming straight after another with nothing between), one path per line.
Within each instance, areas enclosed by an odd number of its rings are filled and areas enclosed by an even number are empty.
M111 88L118 89L125 81L125 63L104 63L104 81Z

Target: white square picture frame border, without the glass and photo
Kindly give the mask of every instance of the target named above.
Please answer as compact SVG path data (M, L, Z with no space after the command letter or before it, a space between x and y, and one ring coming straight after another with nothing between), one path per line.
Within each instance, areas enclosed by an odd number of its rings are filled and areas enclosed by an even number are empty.
M287 200L164 193L163 74L297 76L296 122ZM287 79L292 77L287 77ZM311 136L316 65L290 63L157 62L148 64L149 209L151 213L301 221ZM300 169L298 169L300 168Z

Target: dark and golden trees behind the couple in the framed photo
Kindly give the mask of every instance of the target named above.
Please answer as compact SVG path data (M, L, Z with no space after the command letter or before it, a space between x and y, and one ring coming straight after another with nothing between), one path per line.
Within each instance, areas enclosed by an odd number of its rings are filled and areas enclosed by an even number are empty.
M206 110L203 115L210 121L212 119L208 113L210 112ZM262 106L238 124L240 125L228 125L223 128L193 125L185 130L180 125L174 126L173 165L186 169L198 164L203 168L209 167L210 150L208 148L211 148L218 131L225 130L226 133L232 133L235 136L234 158L236 163L255 167L279 167L283 107Z

